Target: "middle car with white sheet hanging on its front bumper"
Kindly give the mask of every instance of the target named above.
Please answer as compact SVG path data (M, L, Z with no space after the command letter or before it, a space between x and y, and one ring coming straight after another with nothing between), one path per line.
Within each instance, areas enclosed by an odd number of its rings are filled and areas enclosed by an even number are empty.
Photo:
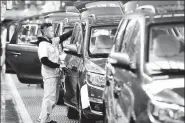
M78 118L79 123L103 118L104 66L113 44L113 32L122 17L118 6L90 7L95 5L100 4L88 3L88 9L81 8L81 21L74 26L70 44L64 47L64 103L69 107L68 118Z

